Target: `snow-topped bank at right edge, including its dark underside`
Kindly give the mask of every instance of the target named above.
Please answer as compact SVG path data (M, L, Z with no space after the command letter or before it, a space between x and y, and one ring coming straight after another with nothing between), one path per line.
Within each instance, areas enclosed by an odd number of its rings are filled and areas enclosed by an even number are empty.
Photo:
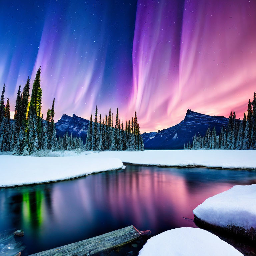
M256 185L234 186L209 197L193 213L204 228L230 233L239 239L256 240Z

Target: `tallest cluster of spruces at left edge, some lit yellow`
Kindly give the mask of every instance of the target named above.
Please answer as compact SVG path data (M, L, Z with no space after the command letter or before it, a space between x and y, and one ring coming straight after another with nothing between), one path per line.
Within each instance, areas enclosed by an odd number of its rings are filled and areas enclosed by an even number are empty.
M10 102L4 105L5 84L0 101L0 151L13 151L19 155L29 155L39 150L58 150L54 124L54 99L48 108L46 120L41 115L42 89L40 87L41 67L36 72L29 95L30 78L21 92L19 86L14 119L10 119Z

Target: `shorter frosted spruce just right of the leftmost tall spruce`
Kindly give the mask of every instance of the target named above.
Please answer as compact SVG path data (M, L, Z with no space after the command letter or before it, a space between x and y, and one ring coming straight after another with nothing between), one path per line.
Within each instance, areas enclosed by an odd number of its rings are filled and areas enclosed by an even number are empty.
M5 115L1 123L1 137L0 137L0 150L10 151L10 102L7 98L7 103L5 107Z

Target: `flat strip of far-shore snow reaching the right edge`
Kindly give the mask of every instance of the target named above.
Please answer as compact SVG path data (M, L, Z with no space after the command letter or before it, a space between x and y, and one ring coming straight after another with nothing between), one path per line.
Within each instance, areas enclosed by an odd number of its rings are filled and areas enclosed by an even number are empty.
M124 163L163 166L198 165L256 169L256 150L146 150L144 152L100 152Z

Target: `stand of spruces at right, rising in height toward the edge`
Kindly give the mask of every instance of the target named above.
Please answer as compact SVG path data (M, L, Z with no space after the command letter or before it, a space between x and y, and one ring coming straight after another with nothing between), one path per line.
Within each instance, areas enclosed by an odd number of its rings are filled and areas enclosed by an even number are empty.
M215 127L206 131L205 137L194 136L193 144L190 142L184 149L256 149L256 93L253 101L249 99L247 117L236 120L235 111L230 112L228 125L221 127L221 133L216 135Z

